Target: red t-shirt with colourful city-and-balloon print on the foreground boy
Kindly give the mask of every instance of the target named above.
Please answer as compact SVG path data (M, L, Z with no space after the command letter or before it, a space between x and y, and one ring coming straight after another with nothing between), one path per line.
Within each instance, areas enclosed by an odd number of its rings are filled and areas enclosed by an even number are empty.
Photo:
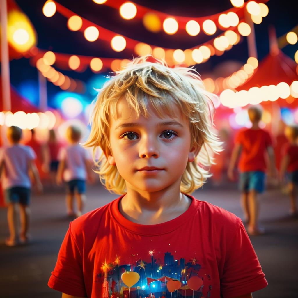
M242 221L234 214L189 196L190 207L177 218L142 225L121 215L121 198L70 223L49 287L91 298L111 297L119 283L120 297L129 297L126 286L133 297L138 289L142 297L150 292L159 297L165 281L178 279L183 287L193 276L202 280L195 297L235 297L266 287ZM135 271L139 280L124 285L126 271ZM190 289L178 291L193 295Z

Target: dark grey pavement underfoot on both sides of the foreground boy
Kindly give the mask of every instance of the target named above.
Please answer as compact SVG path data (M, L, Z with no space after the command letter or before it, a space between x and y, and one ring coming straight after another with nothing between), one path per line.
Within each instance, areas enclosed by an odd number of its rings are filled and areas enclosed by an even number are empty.
M235 184L207 183L193 195L243 218ZM87 190L86 212L115 198L117 195L100 184L91 185ZM260 204L260 224L266 234L250 238L268 286L255 292L253 297L297 298L298 217L288 215L289 199L279 189L272 188L260 195ZM69 226L64 191L47 189L42 195L32 195L31 212L30 245L7 247L4 244L8 236L6 209L0 208L0 298L61 297L47 282Z

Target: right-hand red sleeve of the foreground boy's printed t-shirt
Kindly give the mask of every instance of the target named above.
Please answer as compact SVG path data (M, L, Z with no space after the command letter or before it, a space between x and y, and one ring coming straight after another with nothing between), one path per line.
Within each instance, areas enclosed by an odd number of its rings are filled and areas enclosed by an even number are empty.
M227 249L221 278L224 298L252 293L268 285L252 243L242 224Z

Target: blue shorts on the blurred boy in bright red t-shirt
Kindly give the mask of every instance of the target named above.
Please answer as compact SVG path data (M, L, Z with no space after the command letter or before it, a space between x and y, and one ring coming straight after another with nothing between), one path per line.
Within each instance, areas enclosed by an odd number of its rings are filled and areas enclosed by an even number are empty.
M242 172L239 176L239 190L249 192L256 190L258 193L263 193L265 190L265 173L262 171Z

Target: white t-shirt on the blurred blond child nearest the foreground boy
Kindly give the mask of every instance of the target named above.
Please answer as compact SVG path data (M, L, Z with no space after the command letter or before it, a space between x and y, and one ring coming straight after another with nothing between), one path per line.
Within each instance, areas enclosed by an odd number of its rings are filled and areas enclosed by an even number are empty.
M65 161L65 170L63 173L65 181L74 179L86 180L85 160L89 159L89 154L80 144L61 148L58 159Z

